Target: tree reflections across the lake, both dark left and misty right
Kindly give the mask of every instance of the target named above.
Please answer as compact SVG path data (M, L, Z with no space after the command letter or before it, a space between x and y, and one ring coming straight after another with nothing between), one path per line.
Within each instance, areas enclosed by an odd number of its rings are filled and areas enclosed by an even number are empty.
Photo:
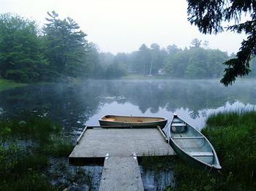
M53 120L72 128L78 127L78 120L86 122L106 102L128 102L138 106L142 113L148 109L157 113L159 108L170 112L187 108L190 116L196 118L200 110L216 109L227 101L256 104L255 87L251 82L223 87L217 81L92 80L72 87L51 84L7 90L1 92L0 106L4 109L1 116L15 115L23 109L48 112Z

